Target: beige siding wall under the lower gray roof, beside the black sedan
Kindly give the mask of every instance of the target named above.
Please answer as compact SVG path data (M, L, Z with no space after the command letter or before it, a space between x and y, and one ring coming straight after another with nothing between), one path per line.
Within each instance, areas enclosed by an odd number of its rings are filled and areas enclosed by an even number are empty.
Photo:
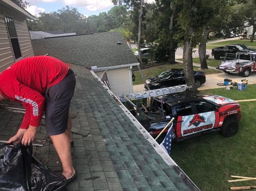
M104 71L97 71L95 74L100 77ZM131 71L129 67L123 67L121 69L107 70L108 80L110 84L110 90L115 95L131 94L133 90L130 85L129 76Z

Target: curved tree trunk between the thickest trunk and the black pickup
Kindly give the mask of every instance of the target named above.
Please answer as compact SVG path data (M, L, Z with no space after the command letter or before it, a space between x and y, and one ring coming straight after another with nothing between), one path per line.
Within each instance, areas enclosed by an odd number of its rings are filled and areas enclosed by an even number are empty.
M206 44L207 44L208 35L209 35L209 29L206 29L203 33L201 42L199 44L198 52L199 52L199 58L201 63L201 69L208 69L207 60L206 60Z

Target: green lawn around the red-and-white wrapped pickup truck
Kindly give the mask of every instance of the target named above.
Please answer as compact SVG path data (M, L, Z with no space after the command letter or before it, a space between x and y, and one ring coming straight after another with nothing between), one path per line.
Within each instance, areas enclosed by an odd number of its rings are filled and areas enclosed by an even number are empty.
M201 91L234 100L256 99L256 84L245 91L217 88ZM171 157L203 191L224 191L230 186L255 185L256 181L228 182L231 175L256 177L256 102L241 102L242 119L238 133L230 138L210 133L172 144Z

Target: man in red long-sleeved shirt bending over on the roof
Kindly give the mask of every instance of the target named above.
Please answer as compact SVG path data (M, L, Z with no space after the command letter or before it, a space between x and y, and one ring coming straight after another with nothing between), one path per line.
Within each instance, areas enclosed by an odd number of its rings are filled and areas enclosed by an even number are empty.
M75 86L75 74L67 63L49 56L24 58L0 74L0 100L18 101L26 109L22 125L7 143L30 145L45 113L46 131L59 155L65 183L76 177L68 117Z

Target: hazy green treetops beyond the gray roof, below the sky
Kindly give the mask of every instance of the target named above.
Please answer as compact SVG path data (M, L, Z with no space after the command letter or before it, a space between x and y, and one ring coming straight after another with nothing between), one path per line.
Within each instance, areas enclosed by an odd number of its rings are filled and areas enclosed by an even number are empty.
M129 16L123 6L115 6L109 12L99 15L84 16L75 7L65 6L54 12L40 13L35 22L30 21L32 31L108 32L112 29L129 27ZM131 35L129 35L131 36Z

